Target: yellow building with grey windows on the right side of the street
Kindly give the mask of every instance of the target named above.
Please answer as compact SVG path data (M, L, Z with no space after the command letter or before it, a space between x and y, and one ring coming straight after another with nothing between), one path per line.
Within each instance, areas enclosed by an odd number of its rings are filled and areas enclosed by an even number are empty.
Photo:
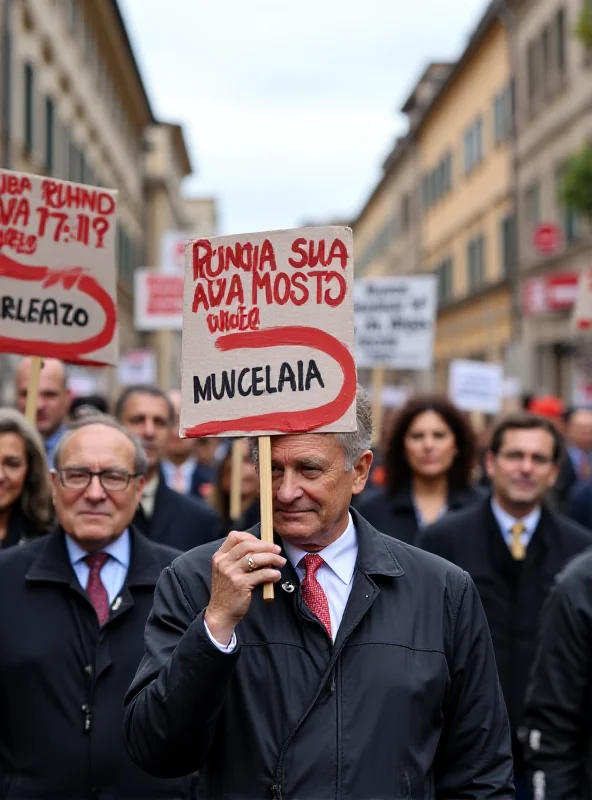
M454 358L505 360L515 252L509 37L495 4L421 115L421 270L439 276L435 385Z

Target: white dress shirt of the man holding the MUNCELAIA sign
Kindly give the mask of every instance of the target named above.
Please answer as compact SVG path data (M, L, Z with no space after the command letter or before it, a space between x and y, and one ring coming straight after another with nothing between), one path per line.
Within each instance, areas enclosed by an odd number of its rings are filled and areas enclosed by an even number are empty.
M308 555L308 551L301 550L299 547L289 544L288 542L284 542L283 544L288 560L294 567L300 579L300 583L302 583L306 575L306 569L304 566L299 566L299 564L304 556ZM347 528L339 539L336 539L321 550L318 555L321 556L324 563L318 568L316 579L327 596L329 614L331 616L331 633L333 635L333 641L335 641L352 589L356 561L358 559L358 534L351 514L348 514ZM218 650L224 653L232 653L236 647L235 634L232 635L230 643L225 647L214 639L208 630L205 620L204 626L211 642L216 645Z

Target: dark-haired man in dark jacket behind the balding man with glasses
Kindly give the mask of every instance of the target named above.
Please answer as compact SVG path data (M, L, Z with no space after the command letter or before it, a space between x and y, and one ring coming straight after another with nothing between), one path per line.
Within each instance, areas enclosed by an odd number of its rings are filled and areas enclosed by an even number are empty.
M157 386L128 386L115 415L137 436L148 458L146 483L134 525L149 539L178 550L190 550L220 536L220 518L203 500L186 497L167 486L162 458L175 419L173 405Z

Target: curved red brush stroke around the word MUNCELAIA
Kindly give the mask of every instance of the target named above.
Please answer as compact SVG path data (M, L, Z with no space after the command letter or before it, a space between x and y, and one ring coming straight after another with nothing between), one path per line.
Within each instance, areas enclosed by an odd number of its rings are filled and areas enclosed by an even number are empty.
M194 425L192 428L185 428L185 436L189 438L218 436L228 431L252 433L259 430L306 433L341 419L356 396L356 365L347 347L335 337L318 328L290 325L268 328L264 331L230 333L227 336L220 336L216 340L216 348L223 352L286 346L311 347L337 361L343 372L343 385L334 400L307 411L275 411L240 419L204 422Z

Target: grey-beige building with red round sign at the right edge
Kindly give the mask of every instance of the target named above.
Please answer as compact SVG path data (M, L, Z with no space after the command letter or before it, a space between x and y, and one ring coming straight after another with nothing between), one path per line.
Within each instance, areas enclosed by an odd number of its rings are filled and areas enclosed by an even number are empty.
M592 138L592 54L574 34L589 0L515 0L520 371L531 392L578 398L583 380L571 314L592 267L590 226L562 206L569 157ZM588 398L590 399L590 398Z

